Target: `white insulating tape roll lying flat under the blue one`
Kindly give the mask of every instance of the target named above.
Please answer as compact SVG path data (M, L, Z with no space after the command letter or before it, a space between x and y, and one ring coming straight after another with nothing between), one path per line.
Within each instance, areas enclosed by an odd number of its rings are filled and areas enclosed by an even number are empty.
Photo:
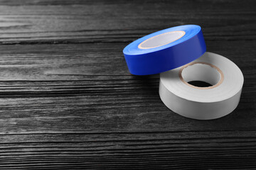
M213 86L198 87L189 81ZM244 78L227 58L206 52L197 60L160 74L159 95L179 115L198 120L223 117L238 106Z

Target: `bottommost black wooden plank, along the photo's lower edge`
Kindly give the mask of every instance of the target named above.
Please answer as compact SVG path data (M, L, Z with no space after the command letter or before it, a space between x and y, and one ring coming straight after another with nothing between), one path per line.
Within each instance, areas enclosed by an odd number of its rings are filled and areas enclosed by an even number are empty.
M254 135L255 131L1 135L0 167L254 169Z

